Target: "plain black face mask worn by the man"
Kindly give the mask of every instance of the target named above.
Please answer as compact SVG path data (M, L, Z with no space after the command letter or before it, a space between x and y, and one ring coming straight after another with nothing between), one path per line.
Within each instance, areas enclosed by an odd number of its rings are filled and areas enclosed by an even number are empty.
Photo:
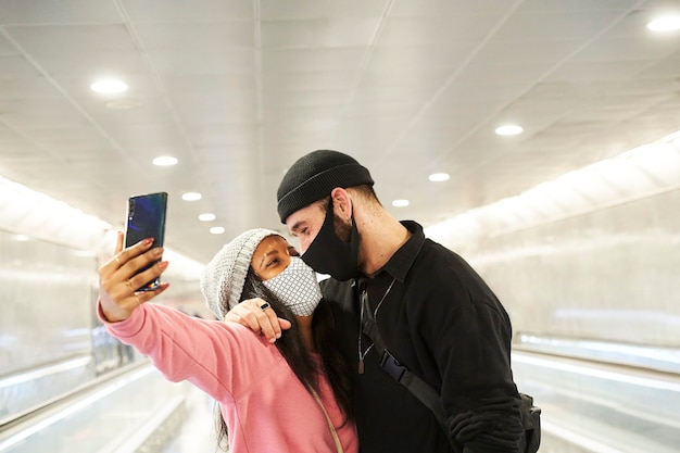
M310 248L302 254L302 260L320 274L328 274L337 280L350 280L362 277L358 269L358 230L352 216L350 242L344 242L336 235L332 203L326 211L326 219Z

